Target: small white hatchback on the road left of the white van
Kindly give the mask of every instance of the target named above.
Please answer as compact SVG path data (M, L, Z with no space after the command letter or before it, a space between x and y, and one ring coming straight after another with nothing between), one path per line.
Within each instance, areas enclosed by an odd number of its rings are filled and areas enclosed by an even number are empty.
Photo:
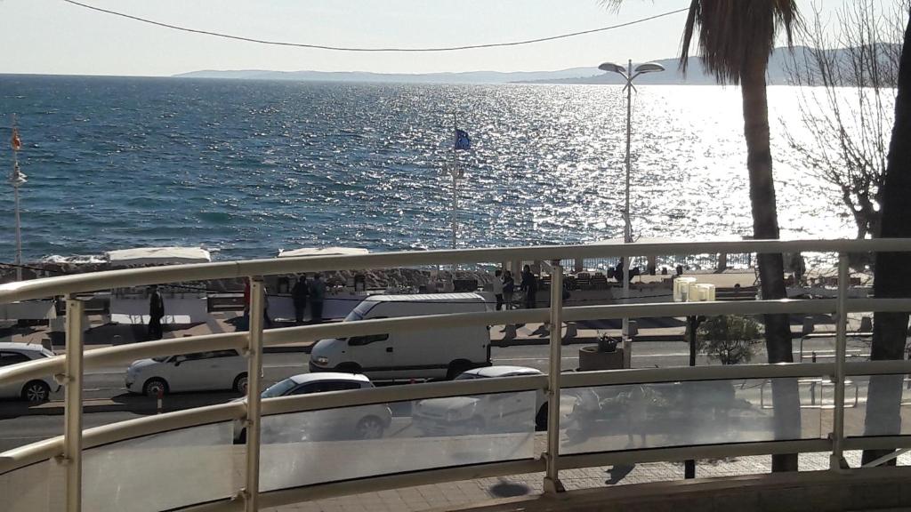
M127 368L126 384L130 393L148 396L229 389L247 393L247 358L231 349L140 359Z

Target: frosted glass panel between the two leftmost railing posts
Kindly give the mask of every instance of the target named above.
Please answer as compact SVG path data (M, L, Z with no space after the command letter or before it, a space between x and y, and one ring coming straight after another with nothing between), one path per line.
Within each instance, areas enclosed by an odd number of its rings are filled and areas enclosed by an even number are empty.
M194 426L86 450L83 510L168 510L232 496L244 455L231 431L230 423Z

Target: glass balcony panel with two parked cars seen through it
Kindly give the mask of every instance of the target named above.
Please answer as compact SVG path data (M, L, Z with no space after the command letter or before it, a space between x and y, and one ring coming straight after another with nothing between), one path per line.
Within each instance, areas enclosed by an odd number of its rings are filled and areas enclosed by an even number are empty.
M260 487L531 458L541 404L528 391L266 416Z

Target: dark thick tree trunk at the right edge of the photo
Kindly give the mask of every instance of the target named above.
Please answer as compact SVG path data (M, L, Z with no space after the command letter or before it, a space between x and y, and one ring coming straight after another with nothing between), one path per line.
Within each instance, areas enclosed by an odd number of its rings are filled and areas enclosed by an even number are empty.
M883 183L880 234L883 238L911 238L911 12L898 66L896 124L892 128ZM876 254L873 292L878 298L911 297L911 265L903 252ZM902 359L908 333L907 312L874 313L870 359ZM867 388L865 435L901 433L902 379L899 375L870 378ZM866 464L893 450L865 450ZM893 461L893 464L895 461Z

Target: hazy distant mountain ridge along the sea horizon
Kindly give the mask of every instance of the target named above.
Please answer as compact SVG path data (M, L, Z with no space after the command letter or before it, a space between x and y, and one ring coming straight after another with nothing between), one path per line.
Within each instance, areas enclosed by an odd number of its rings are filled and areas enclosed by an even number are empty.
M795 58L798 63L804 61L804 56L809 52L806 46L775 48L769 58L767 72L768 81L772 85L788 84L788 63ZM838 48L828 50L836 54L844 54L847 50ZM691 56L688 61L687 74L684 76L679 67L677 58L656 60L666 71L663 73L650 73L642 75L636 80L637 84L667 84L667 85L711 85L715 84L715 77L706 73L702 67L702 60L698 56ZM616 64L624 65L623 62ZM633 65L635 67L635 63ZM463 73L369 73L364 71L269 71L259 69L248 70L204 70L182 73L174 77L181 78L222 78L222 79L247 79L247 80L292 80L292 81L325 81L325 82L396 82L415 84L621 84L622 78L613 73L599 71L597 66L570 67L558 71L467 71Z

